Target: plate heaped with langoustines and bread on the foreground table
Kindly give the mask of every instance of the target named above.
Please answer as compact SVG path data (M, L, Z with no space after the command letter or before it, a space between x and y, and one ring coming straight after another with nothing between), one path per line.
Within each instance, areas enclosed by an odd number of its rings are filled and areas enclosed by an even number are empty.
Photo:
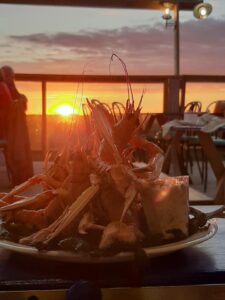
M216 233L210 216L189 207L188 177L160 178L164 154L142 132L141 106L129 84L126 105L87 99L83 130L74 125L82 132L76 143L0 194L1 248L64 261L124 261ZM33 185L41 192L24 196Z

